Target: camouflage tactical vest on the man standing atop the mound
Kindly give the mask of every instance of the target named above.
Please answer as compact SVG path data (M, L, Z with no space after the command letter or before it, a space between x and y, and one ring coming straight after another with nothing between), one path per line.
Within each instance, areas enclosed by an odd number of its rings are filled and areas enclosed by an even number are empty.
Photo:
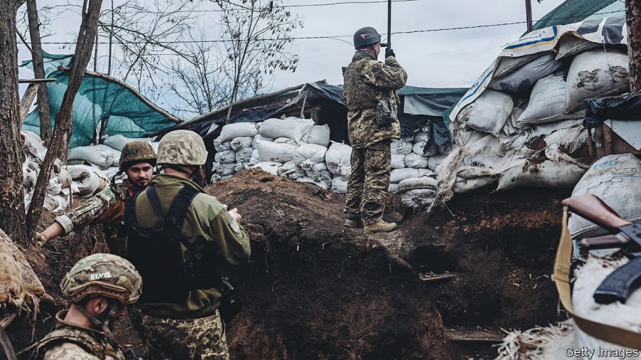
M379 88L363 82L361 72L367 61L370 59L353 61L343 73L343 100L350 111L375 108L378 100L385 97Z

